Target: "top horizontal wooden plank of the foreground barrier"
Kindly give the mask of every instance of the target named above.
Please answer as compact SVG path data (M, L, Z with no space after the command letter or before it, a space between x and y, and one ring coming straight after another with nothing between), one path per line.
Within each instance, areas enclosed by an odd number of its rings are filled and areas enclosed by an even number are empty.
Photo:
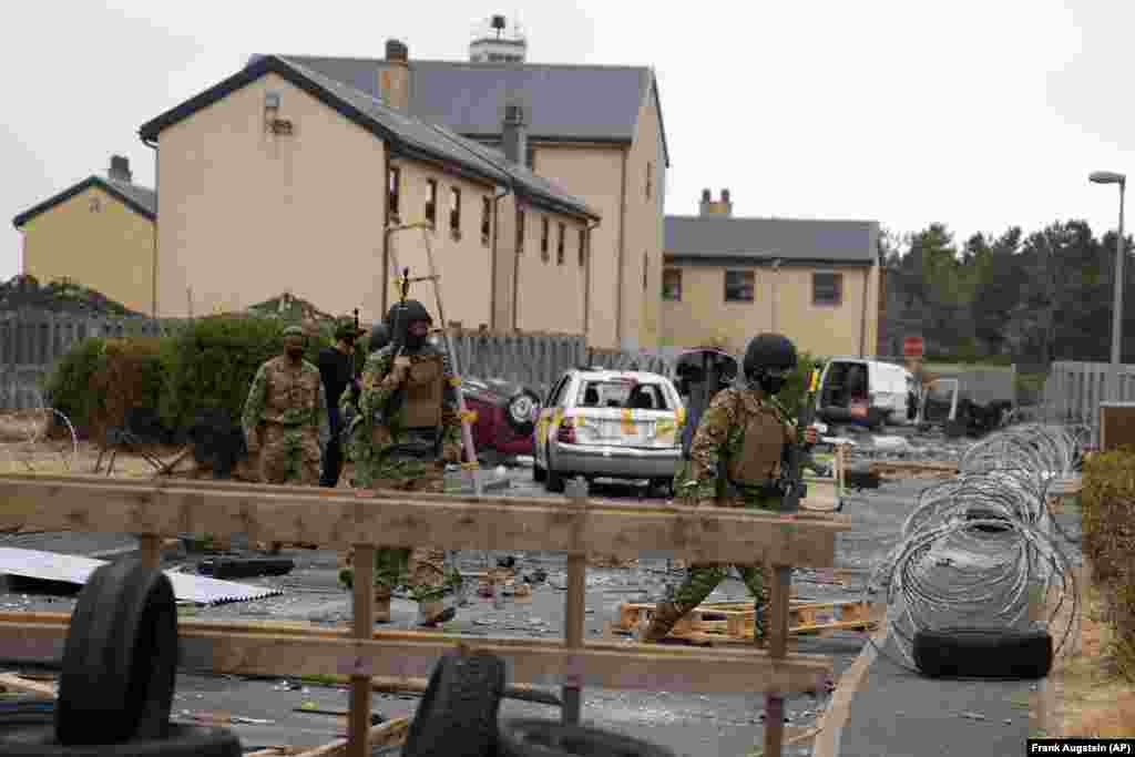
M82 479L82 480L81 480ZM850 523L732 507L622 505L591 502L582 527L561 502L548 499L351 496L319 487L224 491L151 481L123 485L94 477L0 477L0 499L43 530L178 533L245 532L253 541L305 541L444 549L585 549L616 557L669 550L691 563L774 562L830 567L835 536ZM334 496L333 496L334 494Z

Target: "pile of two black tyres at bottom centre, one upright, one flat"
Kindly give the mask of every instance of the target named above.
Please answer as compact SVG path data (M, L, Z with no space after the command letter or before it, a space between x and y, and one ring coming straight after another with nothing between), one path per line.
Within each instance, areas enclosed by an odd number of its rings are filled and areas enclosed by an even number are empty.
M402 757L674 757L621 733L556 721L498 722L504 661L481 651L443 657L410 722Z

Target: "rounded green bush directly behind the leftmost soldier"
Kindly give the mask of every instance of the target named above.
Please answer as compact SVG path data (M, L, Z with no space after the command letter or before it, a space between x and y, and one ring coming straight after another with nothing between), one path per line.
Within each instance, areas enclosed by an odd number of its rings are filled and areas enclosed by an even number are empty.
M167 390L161 418L170 428L186 428L203 410L222 410L241 420L249 387L260 365L284 351L280 331L288 323L257 316L210 316L195 319L163 340L162 368ZM305 359L312 364L330 344L326 328L308 339Z

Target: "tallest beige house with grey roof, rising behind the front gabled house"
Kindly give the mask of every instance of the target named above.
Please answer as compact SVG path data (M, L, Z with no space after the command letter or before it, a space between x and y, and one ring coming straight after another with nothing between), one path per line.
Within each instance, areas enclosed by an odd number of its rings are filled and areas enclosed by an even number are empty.
M589 344L657 346L670 155L655 74L645 67L529 64L526 56L527 41L498 33L474 40L468 61L413 60L400 43L388 43L381 59L286 59L486 145L503 143L505 117L512 113L523 132L524 162L603 217L590 235L585 317ZM251 65L259 59L253 56ZM504 219L515 224L516 217L505 211L505 203L499 210L503 232ZM526 216L524 224L528 244L541 245L543 221ZM549 233L558 238L556 226ZM507 243L514 244L511 238ZM578 235L569 230L566 246L577 243ZM550 244L556 260L558 242ZM543 254L543 246L535 253L528 246L515 250L513 264L523 281L515 325L522 329L544 328L550 319L546 295L569 285L563 271L541 267ZM508 261L501 263L503 275ZM503 301L495 316L491 326L507 330Z

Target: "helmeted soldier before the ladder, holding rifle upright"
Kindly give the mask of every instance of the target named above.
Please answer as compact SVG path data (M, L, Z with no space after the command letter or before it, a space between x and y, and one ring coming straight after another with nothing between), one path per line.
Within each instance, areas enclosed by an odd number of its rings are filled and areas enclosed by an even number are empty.
M461 462L461 419L449 358L428 340L432 322L417 300L395 304L387 316L392 343L367 358L362 390L348 430L353 486L363 489L443 491L445 464ZM345 412L353 397L343 398ZM427 546L379 549L375 574L375 621L390 621L390 597L403 582L418 603L422 625L452 620L447 588L461 577L445 570L445 552ZM352 571L342 571L344 583Z

